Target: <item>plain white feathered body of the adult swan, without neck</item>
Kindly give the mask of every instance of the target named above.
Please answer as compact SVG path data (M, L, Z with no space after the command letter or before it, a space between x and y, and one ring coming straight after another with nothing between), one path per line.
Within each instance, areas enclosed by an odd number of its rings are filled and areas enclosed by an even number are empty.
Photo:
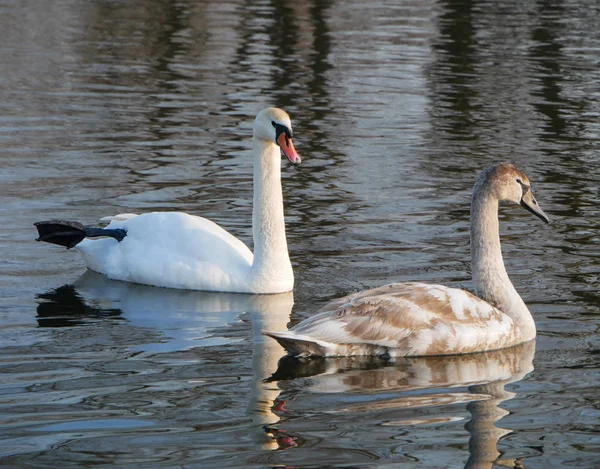
M172 288L244 291L253 255L216 223L181 212L115 217L127 236L77 245L88 267L110 278Z

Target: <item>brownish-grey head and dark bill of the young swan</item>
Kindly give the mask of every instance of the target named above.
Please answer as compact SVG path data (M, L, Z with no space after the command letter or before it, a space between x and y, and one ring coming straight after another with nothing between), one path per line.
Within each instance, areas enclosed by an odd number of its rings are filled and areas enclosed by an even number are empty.
M512 164L500 163L485 169L477 178L473 193L482 190L498 200L521 205L546 223L550 221L533 196L529 178Z

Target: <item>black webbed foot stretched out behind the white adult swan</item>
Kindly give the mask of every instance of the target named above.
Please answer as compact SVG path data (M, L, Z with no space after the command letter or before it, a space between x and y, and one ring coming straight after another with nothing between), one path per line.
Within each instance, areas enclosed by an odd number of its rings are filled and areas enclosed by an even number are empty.
M65 246L67 249L77 246L84 238L108 236L122 241L127 231L120 228L107 230L105 228L86 228L75 221L49 220L34 223L40 235L36 241Z

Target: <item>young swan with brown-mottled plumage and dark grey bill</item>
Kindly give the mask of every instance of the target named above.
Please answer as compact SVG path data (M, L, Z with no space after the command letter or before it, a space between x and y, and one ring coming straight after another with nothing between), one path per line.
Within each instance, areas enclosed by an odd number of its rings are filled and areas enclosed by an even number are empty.
M481 173L471 204L471 269L479 297L442 285L397 283L327 304L289 331L265 332L294 355L421 356L482 352L535 338L535 323L502 261L498 202L548 223L525 174L509 164Z

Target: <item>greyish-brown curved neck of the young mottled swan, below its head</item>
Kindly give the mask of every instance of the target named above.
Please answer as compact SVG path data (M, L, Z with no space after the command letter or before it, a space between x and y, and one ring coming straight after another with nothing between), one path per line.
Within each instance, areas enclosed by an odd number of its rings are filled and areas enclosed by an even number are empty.
M522 340L535 337L529 309L508 278L498 223L498 199L477 185L471 204L471 270L477 295L511 317Z

